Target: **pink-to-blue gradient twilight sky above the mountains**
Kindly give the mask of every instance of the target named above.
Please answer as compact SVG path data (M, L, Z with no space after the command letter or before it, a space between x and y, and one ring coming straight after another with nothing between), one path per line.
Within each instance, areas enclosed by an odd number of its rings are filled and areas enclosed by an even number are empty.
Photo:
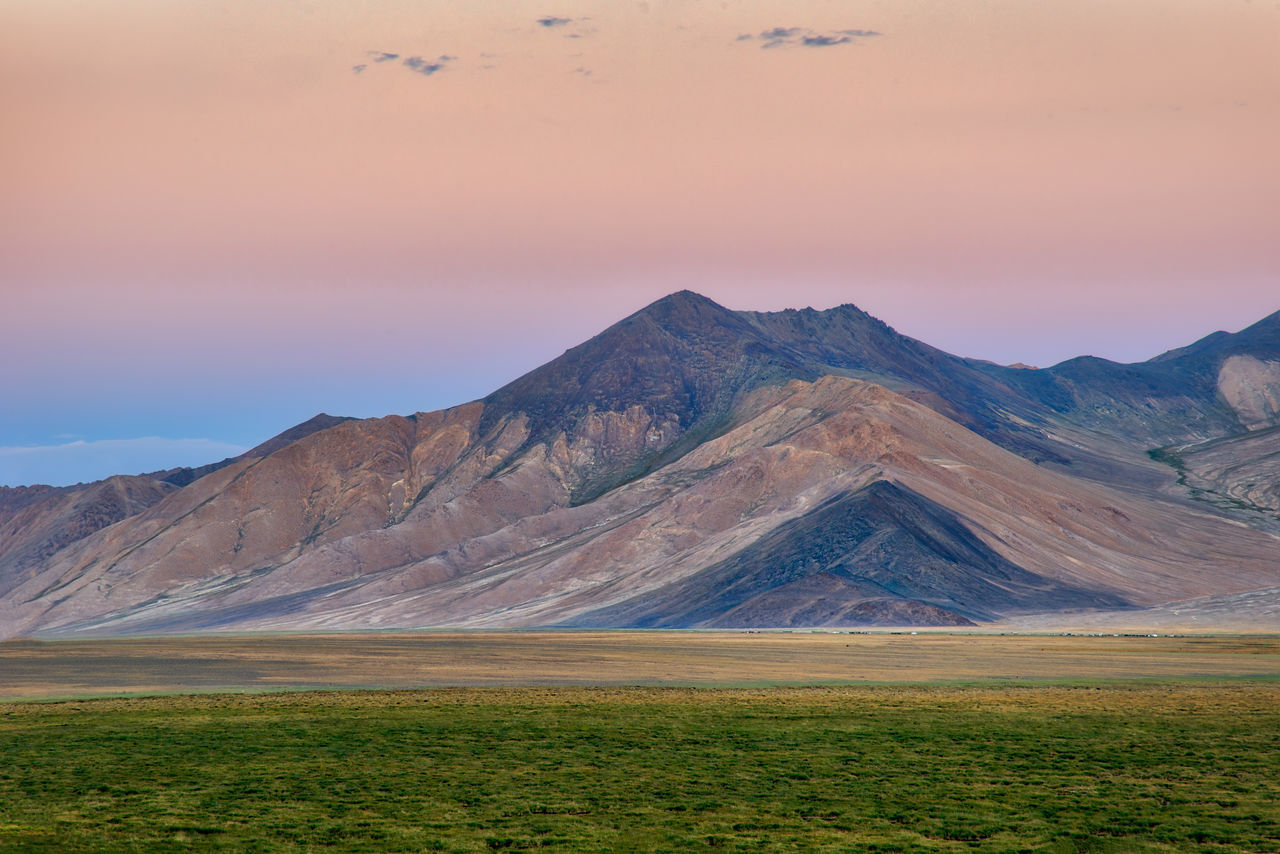
M1280 309L1277 0L0 0L0 484L452 406L666 293L961 356Z

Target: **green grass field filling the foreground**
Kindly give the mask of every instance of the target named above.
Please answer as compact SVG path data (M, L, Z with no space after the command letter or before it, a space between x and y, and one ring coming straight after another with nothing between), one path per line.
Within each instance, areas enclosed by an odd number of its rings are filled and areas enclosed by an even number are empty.
M1280 685L0 705L0 850L1280 851Z

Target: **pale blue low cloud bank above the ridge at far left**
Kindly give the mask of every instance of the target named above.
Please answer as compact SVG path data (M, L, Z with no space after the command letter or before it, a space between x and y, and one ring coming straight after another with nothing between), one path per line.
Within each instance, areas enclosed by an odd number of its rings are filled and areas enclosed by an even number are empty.
M65 444L0 447L0 484L69 487L111 475L202 466L248 448L216 439L101 439Z

